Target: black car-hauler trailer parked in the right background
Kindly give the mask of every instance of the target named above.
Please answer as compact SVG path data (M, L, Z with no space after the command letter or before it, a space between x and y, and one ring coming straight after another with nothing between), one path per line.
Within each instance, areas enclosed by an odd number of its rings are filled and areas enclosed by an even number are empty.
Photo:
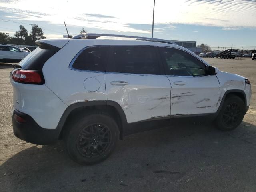
M223 52L220 52L215 57L220 57L221 59L235 59L236 57L252 57L252 54L255 53L255 50L248 49L227 49Z

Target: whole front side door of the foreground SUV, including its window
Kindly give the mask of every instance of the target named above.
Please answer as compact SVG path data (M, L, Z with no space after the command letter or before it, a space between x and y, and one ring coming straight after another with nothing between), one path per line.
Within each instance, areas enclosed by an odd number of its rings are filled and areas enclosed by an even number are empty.
M207 75L208 66L184 50L159 51L172 86L171 116L216 112L220 84L216 75Z

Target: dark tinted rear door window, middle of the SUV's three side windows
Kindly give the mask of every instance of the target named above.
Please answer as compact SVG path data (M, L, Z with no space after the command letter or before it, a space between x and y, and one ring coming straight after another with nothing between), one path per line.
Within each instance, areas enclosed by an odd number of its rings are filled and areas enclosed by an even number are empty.
M160 74L156 47L111 46L108 72Z

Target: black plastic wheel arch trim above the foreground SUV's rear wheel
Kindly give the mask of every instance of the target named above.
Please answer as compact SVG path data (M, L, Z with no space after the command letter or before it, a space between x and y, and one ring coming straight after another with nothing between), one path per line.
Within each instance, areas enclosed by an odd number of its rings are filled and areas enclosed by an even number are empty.
M87 101L87 102L78 102L75 104L71 104L66 108L58 126L56 128L58 132L59 139L63 137L63 133L68 125L68 123L77 116L77 114L86 113L90 110L101 110L107 114L109 114L116 123L118 124L120 136L119 138L122 140L124 137L124 129L127 126L126 116L124 114L124 110L122 110L121 106L114 101Z

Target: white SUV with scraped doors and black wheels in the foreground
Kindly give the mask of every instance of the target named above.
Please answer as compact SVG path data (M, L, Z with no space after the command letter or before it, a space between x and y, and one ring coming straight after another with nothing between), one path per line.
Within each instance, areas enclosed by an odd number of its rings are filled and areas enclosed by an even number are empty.
M100 162L118 138L172 118L210 117L232 130L249 108L248 79L167 40L81 34L36 43L11 72L14 134L34 144L64 138L80 164Z

